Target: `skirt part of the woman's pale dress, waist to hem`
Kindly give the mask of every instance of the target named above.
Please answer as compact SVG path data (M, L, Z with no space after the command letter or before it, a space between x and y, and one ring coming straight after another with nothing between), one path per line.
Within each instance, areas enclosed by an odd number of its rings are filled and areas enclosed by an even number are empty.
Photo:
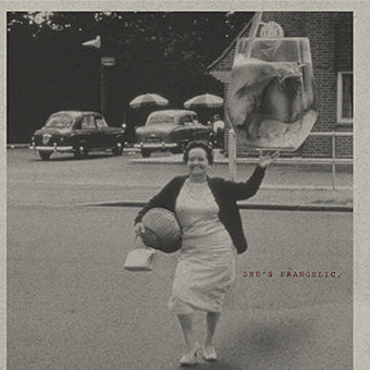
M235 280L235 248L225 233L184 236L169 301L175 313L222 310L225 294Z

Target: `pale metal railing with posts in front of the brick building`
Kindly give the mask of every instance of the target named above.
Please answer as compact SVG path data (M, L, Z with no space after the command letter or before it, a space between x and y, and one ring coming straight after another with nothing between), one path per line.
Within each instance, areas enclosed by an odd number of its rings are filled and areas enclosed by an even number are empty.
M335 178L336 178L336 169L335 162L337 162L336 158L336 143L335 138L337 136L353 136L351 132L312 132L308 136L331 136L332 137L332 188L335 189ZM236 164L240 162L240 159L236 156L236 134L234 130L229 131L229 174L230 177L235 180L236 178ZM310 162L311 163L311 162Z

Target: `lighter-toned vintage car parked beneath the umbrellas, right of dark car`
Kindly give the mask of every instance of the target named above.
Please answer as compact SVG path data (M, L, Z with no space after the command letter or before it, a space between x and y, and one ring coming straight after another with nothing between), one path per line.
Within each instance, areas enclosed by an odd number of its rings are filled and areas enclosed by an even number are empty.
M137 144L143 157L152 151L182 152L194 139L212 141L212 130L198 122L198 115L190 110L159 110L148 115L143 127L136 130Z

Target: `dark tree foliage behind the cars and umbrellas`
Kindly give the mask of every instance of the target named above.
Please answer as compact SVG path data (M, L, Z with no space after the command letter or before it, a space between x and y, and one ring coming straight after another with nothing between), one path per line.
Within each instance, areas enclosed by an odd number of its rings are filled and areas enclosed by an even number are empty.
M202 92L223 95L209 65L252 13L225 12L9 12L9 136L30 135L58 109L100 110L100 54L109 71L112 124L135 96L152 91L172 107ZM82 42L102 38L100 51ZM26 134L24 134L26 132ZM22 137L23 138L23 137ZM27 138L28 139L28 138Z

